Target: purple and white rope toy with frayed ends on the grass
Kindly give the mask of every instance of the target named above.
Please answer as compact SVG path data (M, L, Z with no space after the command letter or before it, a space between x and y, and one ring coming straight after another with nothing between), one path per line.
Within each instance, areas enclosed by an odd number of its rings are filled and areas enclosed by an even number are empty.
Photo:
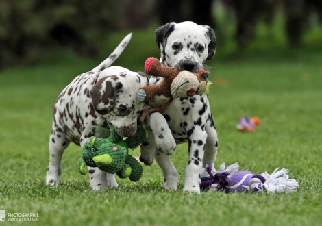
M218 171L212 170L208 164L201 173L201 190L216 190L221 192L264 192L280 193L294 192L299 184L295 179L289 179L286 168L275 171L271 175L265 172L254 174L251 171L239 171L238 163L225 168L225 163Z

